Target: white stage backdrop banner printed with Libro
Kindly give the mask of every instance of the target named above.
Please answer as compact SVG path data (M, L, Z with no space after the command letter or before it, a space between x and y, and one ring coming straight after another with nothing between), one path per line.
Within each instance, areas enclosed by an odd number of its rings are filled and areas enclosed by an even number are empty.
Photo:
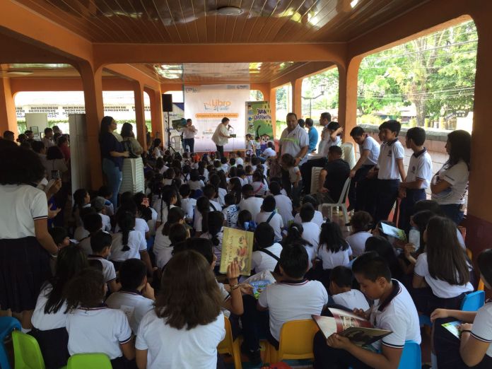
M185 116L193 119L198 132L195 136L194 151L216 151L212 135L223 117L230 119L233 127L224 151L245 148L245 101L250 100L250 85L201 85L185 86Z

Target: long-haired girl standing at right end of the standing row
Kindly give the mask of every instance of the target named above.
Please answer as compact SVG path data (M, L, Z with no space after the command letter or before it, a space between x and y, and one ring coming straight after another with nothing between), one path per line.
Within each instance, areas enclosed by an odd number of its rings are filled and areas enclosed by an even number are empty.
M456 224L464 215L464 197L468 191L472 135L467 131L452 131L447 135L446 151L449 158L430 182L432 199Z

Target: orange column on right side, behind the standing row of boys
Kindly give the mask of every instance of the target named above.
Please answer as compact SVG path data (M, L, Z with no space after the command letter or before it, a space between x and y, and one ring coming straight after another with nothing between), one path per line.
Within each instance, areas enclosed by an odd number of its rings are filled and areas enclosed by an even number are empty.
M339 115L338 120L344 127L344 141L350 139L350 131L357 125L357 78L361 65L361 57L348 62L347 66L339 69Z

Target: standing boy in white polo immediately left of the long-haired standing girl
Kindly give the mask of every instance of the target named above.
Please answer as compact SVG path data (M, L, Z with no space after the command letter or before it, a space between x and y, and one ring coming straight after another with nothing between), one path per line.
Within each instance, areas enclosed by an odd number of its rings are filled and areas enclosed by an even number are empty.
M414 152L410 157L406 179L399 185L399 197L402 201L399 206L398 228L406 233L410 230L410 216L415 212L414 204L426 199L426 189L432 179L432 159L423 147L425 141L426 131L423 128L413 127L406 131L406 148Z

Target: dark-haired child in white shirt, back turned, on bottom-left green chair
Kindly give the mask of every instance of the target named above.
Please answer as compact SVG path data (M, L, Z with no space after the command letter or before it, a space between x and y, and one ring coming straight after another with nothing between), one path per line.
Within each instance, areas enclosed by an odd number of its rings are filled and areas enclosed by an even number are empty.
M68 314L69 353L105 353L112 368L127 368L135 357L134 341L122 310L102 304L106 283L100 271L85 269L64 289Z

